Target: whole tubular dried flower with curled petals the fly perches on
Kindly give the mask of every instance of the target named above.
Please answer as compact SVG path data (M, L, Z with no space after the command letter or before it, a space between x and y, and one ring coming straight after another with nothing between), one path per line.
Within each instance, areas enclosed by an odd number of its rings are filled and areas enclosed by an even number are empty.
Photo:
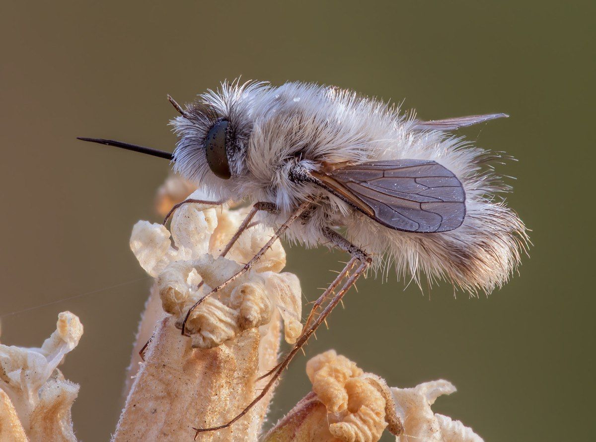
M208 199L200 191L190 198ZM194 435L192 426L224 424L266 383L257 381L259 373L277 363L281 319L288 342L302 332L300 283L291 273L280 273L285 251L279 241L252 270L194 309L185 326L190 339L178 331L188 309L273 234L253 226L226 257L219 256L244 214L244 208L185 204L173 214L170 231L144 221L134 226L131 249L156 277L156 292L170 316L157 324L114 441L182 440ZM272 390L232 427L197 440L256 441L271 396Z

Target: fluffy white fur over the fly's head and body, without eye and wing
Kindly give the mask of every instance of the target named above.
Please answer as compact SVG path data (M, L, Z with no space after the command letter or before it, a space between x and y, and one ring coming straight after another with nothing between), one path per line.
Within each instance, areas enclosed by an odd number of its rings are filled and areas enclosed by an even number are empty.
M199 99L250 136L240 146L241 158L230 164L232 178L222 180L204 160L201 139L209 122L178 117L173 120L180 136L175 170L216 197L277 204L280 216L265 217L272 223L283 222L305 200L319 203L308 222L291 226L288 239L312 246L321 242L323 226L345 227L350 241L373 254L377 266L387 255L399 275L447 279L470 292L501 286L519 264L526 229L514 211L495 200L495 193L507 186L486 167L495 156L490 152L445 132L417 129L413 115L334 87L234 82ZM434 160L457 175L466 192L462 226L434 234L395 231L315 185L288 178L297 162L317 170L322 162L398 158Z

